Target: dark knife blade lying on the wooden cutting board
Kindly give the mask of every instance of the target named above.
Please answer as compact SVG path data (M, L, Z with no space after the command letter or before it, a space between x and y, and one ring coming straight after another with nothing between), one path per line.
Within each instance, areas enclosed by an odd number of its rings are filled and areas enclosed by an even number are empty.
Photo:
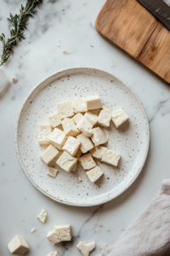
M170 31L170 7L162 0L137 0Z

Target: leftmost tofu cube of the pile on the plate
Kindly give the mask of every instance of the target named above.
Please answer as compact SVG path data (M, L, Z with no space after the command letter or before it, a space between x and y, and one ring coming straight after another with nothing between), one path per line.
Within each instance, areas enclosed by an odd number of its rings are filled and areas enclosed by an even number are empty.
M37 139L40 145L49 145L49 137L53 129L51 125L38 125L37 128Z

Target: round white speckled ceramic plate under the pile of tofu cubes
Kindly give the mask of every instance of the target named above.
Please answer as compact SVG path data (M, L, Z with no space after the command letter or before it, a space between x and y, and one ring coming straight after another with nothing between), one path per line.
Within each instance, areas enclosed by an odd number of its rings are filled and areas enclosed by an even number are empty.
M111 113L123 108L129 116L129 122L120 129L116 130L112 122L109 129L108 148L122 154L118 168L97 161L105 173L97 183L90 182L81 166L77 172L59 169L56 178L49 177L48 167L40 160L44 147L37 143L37 125L48 124L57 102L96 94ZM31 183L55 201L82 207L121 195L139 176L150 143L148 119L138 96L111 73L92 67L61 70L37 84L21 108L15 135L20 165Z

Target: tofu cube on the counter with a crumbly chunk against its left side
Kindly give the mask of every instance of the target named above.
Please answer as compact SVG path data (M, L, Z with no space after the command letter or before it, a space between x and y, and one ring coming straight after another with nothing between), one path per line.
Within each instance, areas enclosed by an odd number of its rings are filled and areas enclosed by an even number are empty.
M54 229L60 241L71 241L71 225L54 225Z

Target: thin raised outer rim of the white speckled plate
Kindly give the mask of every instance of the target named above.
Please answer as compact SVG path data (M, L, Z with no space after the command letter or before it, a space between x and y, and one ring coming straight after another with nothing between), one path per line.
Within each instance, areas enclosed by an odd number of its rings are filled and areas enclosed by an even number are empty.
M124 84L128 90L130 90L133 95L136 97L137 101L139 102L139 106L140 108L142 108L142 111L144 113L144 118L146 119L146 125L147 125L147 146L145 148L145 154L144 154L144 159L142 161L142 164L141 166L139 167L139 171L136 173L135 177L133 177L133 179L131 180L130 183L127 184L126 188L125 189L122 189L121 191L119 191L116 195L112 196L111 198L107 198L105 201L100 201L98 203L93 203L93 204L80 204L80 203L73 203L73 202L68 202L68 201L62 201L62 200L59 200L58 198L54 197L53 195L48 195L47 192L45 192L44 190L42 190L41 188L39 188L39 186L37 185L37 183L35 183L31 177L29 176L29 174L26 172L26 169L25 169L25 166L23 165L22 163L22 160L21 160L21 157L20 157L20 150L19 150L19 143L18 143L18 130L19 130L19 124L20 124L20 115L22 113L22 109L25 107L25 104L28 100L28 98L31 96L31 94L34 92L34 90L37 89L38 86L40 86L42 83L44 83L47 79L53 77L54 75L58 74L58 73L65 73L65 71L71 71L71 70L77 70L77 69L91 69L91 70L94 70L94 71L99 71L99 72L103 72L103 73L106 73L108 75L111 75L112 77L118 79L120 82L122 82L122 84ZM22 170L23 172L26 174L26 177L28 178L28 180L31 182L31 184L36 188L38 189L43 195L46 195L48 196L49 198L53 199L54 201L58 201L62 204L65 204L65 205L68 205L68 206L73 206L73 207L94 207L94 206L99 206L101 204L104 204L108 201L111 201L113 199L115 199L116 197L118 197L119 195L122 195L122 193L124 193L132 184L133 182L137 179L137 177L139 177L139 173L142 171L143 167L144 167L144 163L145 163L145 160L147 159L147 155L148 155L148 152L149 152L149 148L150 148L150 125L149 125L149 121L148 121L148 117L147 117L147 114L145 112L145 109L144 109L144 105L143 103L140 101L139 99L139 96L136 94L136 92L126 83L124 82L122 79L119 79L119 77L115 76L113 73L110 73L108 71L105 71L105 69L102 69L102 68L99 68L99 67L89 67L89 66L77 66L77 67L66 67L66 68L62 68L62 69L59 69L58 71L48 75L48 77L46 77L45 79L42 79L39 83L36 84L36 86L30 91L30 93L28 94L28 96L26 96L24 102L22 103L21 105L21 108L20 108L20 111L19 113L17 114L18 115L18 118L17 118L17 121L16 121L16 125L15 125L15 131L14 131L14 143L15 143L15 147L16 147L16 153L17 153L17 156L18 156L18 160L20 162L20 166L22 167Z

